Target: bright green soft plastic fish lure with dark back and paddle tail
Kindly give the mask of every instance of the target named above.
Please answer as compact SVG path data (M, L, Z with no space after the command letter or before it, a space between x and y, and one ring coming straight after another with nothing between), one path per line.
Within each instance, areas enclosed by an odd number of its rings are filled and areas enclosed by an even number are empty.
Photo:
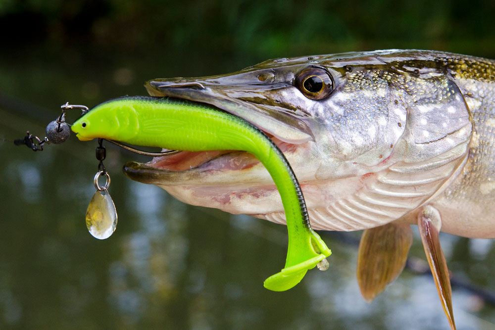
M97 105L72 125L72 131L81 141L101 138L174 150L243 150L256 156L282 197L289 233L285 268L264 282L270 290L292 288L331 254L311 229L304 197L284 154L240 117L204 103L126 96Z

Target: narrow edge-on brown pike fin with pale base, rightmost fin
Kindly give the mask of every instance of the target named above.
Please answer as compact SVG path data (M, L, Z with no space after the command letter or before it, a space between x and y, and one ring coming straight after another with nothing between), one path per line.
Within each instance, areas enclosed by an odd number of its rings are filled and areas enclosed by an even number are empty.
M438 295L442 302L445 315L450 328L455 330L454 314L452 312L452 289L450 288L450 278L448 275L447 263L444 252L440 246L439 233L442 226L440 213L433 206L427 205L418 214L418 228L426 258L437 285Z

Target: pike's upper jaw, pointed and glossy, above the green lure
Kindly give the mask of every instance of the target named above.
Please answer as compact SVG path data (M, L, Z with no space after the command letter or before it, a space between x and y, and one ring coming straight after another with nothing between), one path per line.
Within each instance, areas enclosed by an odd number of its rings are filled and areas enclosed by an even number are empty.
M245 77L247 82L240 84L243 77L239 75L246 76L246 73L198 79L156 79L148 81L145 87L152 96L171 96L214 105L245 119L281 141L304 143L314 140L305 121L306 114L287 110L269 96L273 91L290 89L292 85L284 82L255 84L259 80L256 78L255 82L249 79L251 73Z

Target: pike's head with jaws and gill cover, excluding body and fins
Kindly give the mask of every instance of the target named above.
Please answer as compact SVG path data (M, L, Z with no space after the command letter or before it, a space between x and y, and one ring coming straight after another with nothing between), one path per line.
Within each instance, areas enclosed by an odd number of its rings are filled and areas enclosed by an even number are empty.
M281 58L226 75L155 79L146 88L212 104L263 130L294 169L313 228L350 231L417 209L465 161L472 124L447 55ZM183 151L127 163L124 172L189 204L285 221L268 172L246 152Z

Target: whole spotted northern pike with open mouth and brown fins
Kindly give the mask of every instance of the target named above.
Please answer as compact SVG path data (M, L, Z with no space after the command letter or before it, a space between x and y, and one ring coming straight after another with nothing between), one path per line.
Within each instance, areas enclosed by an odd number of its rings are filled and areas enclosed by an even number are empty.
M239 72L154 79L152 96L211 104L270 136L317 230L365 230L357 277L371 300L402 271L420 229L455 329L439 231L495 236L495 62L424 50L268 60ZM181 201L285 223L264 166L243 151L183 151L126 175ZM378 267L381 265L381 267Z

